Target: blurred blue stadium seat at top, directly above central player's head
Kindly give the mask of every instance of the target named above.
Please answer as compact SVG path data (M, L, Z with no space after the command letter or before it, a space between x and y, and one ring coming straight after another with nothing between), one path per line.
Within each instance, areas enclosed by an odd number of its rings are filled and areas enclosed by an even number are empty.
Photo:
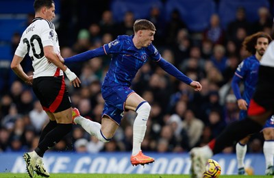
M123 21L125 12L133 12L134 18L147 18L149 12L153 6L157 6L160 10L163 10L162 1L160 0L140 0L140 1L129 1L129 0L116 0L110 5L114 21Z

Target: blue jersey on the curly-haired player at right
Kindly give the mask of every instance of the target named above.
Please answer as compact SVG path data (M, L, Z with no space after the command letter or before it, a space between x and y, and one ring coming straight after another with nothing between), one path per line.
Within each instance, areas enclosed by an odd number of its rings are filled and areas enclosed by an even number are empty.
M245 90L242 94L242 99L245 99L247 103L250 102L256 88L259 66L260 61L256 59L255 55L251 55L238 65L235 72L235 75L240 77L244 82Z

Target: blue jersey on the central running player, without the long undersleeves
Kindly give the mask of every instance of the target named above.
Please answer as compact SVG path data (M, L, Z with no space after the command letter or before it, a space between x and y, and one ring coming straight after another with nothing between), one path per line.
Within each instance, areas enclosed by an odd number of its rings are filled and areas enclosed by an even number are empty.
M133 36L118 36L116 40L103 45L105 53L112 54L103 86L130 86L138 70L149 58L153 61L160 60L161 55L153 44L137 49L132 39Z

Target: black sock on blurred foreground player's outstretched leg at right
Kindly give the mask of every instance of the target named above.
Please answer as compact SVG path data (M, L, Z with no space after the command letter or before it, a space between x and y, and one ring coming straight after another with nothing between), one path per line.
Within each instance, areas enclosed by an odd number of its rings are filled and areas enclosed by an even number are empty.
M256 133L262 129L262 125L252 120L245 118L244 120L236 121L228 125L225 130L216 138L213 153L220 153L225 147L231 146L234 141L238 142L251 133Z

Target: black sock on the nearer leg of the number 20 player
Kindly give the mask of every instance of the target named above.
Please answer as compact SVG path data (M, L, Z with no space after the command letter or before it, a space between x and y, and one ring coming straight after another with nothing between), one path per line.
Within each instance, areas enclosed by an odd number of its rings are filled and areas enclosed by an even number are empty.
M44 153L58 143L67 133L71 131L72 124L57 124L57 126L49 131L45 138L38 144L38 147L35 149L36 153L43 157Z

